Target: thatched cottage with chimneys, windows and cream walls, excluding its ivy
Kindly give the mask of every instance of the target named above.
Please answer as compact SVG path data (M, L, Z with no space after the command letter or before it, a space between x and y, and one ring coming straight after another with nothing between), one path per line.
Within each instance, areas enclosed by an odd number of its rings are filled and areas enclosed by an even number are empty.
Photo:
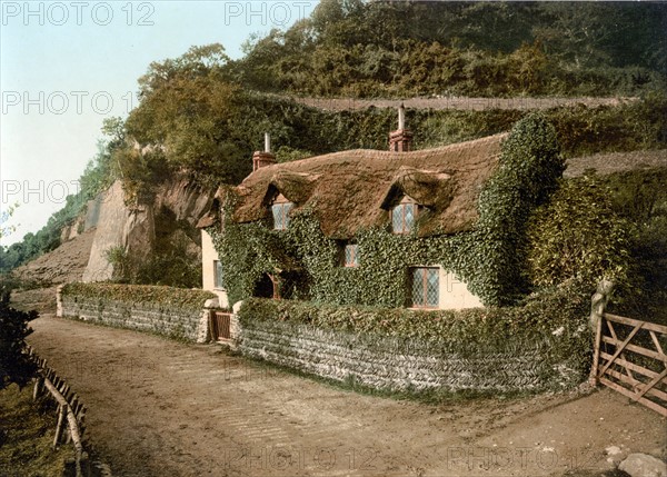
M478 216L480 190L498 163L504 138L505 135L496 135L414 151L412 135L404 126L402 108L399 129L389 136L388 151L349 150L276 163L267 137L265 151L253 155L252 173L233 188L237 200L230 219L235 223L259 222L276 233L283 233L296 215L308 210L318 221L321 233L339 249L332 267L350 270L349 277L352 277L354 269L365 266L365 250L357 241L362 230L375 228L417 240L471 230ZM222 195L221 189L218 198ZM231 305L226 292L229 284L225 282L223 267L206 231L216 223L219 213L220 202L199 225L203 288L217 292L221 305L228 306ZM290 261L287 252L273 262L279 266L258 277L252 295L281 298L281 281L288 279L287 275L299 267L308 268ZM374 264L382 266L377 259ZM331 268L331 272L338 274L338 270ZM372 270L366 272L372 274ZM481 306L467 284L441 264L410 262L402 274L406 290L401 302L406 307ZM337 277L341 290L346 289L345 271Z

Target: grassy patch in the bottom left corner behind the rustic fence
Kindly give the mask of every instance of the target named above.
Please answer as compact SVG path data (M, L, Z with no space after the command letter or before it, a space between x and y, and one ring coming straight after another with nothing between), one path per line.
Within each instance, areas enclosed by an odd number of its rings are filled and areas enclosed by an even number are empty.
M32 387L0 390L0 475L61 477L70 445L53 450L56 411L47 400L32 400Z

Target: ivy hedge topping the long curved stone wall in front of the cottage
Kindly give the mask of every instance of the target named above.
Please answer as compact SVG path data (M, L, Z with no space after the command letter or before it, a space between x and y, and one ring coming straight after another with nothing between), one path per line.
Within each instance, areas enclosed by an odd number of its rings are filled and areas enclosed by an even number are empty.
M460 356L544 346L545 359L575 362L583 378L590 365L591 332L590 295L580 290L579 284L569 282L534 294L520 306L435 311L250 298L243 301L239 322L241 328L253 320L300 324L364 339L402 337Z

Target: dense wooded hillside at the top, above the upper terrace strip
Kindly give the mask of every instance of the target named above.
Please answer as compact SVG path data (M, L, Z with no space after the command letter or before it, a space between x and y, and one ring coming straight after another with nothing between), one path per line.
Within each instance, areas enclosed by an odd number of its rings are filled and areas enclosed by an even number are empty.
M323 0L230 68L318 96L627 95L664 86L665 31L656 3Z

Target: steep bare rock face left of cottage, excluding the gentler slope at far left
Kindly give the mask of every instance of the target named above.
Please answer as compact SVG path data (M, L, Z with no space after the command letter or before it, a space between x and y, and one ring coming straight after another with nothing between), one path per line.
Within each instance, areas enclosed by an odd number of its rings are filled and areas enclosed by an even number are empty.
M192 248L200 248L197 221L211 206L213 190L201 190L187 177L176 177L162 183L152 203L128 207L122 183L116 181L89 205L86 227L97 225L83 281L112 278L113 266L108 251L121 248L131 262L150 257L156 244L165 247L170 237L185 235Z

